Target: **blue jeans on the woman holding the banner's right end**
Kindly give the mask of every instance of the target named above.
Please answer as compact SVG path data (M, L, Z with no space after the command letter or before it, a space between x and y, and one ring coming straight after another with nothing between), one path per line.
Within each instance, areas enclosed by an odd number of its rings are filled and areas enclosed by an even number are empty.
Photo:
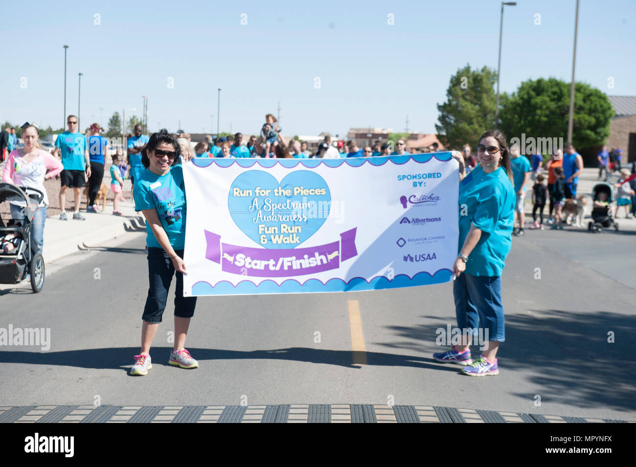
M453 283L455 315L460 329L488 329L488 341L504 342L504 308L501 305L501 276L462 273ZM469 333L476 335L473 333Z

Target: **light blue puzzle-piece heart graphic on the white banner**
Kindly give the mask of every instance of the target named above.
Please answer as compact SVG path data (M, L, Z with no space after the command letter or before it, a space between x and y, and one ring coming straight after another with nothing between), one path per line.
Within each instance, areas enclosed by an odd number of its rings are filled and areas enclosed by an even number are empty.
M294 192L301 187L324 194ZM275 195L274 190L279 188L289 189L291 194ZM327 182L309 170L291 172L280 184L268 172L248 170L232 182L228 208L239 229L261 247L294 248L324 224L331 210L331 193ZM277 219L266 219L272 215ZM281 220L281 216L286 219Z

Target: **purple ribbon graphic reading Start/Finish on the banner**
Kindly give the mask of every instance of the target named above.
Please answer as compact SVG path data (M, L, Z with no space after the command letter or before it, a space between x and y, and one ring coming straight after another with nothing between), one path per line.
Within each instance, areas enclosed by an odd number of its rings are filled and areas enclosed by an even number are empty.
M340 240L308 248L273 250L221 243L221 236L207 230L205 259L221 264L226 273L255 277L305 276L338 269L340 261L357 256L356 230L340 234Z

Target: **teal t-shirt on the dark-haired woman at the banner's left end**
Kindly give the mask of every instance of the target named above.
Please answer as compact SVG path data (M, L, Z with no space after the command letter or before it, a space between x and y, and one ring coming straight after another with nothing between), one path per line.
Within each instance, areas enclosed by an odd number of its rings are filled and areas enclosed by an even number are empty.
M156 209L170 245L183 250L186 241L186 189L183 184L183 168L173 165L165 175L156 175L147 168L135 180L133 193L135 211ZM162 248L146 220L146 245Z

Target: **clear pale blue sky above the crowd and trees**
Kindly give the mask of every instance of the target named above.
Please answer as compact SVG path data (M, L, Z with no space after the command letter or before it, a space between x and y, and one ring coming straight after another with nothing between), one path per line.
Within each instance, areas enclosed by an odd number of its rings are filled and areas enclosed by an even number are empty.
M350 126L435 132L436 104L467 63L497 68L499 1L31 1L3 15L0 121L106 125L149 98L149 128L256 133L277 113L286 135ZM520 0L504 12L501 91L529 78L570 81L575 0ZM178 7L178 8L176 8ZM4 8L8 12L8 7ZM636 3L581 0L576 80L636 95ZM95 25L95 14L100 25ZM241 14L247 25L241 25ZM387 15L394 15L394 25ZM535 15L541 25L535 25ZM608 77L614 88L607 88ZM20 88L21 78L27 88ZM167 86L174 78L174 89ZM314 78L321 88L314 88ZM100 107L103 111L100 111ZM128 112L127 112L128 117Z

